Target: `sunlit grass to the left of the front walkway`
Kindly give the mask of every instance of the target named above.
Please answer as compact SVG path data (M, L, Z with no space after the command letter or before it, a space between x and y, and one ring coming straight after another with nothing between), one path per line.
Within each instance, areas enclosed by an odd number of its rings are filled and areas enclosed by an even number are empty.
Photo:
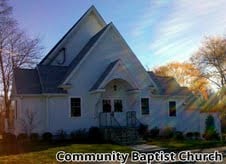
M0 145L2 146L2 145ZM127 146L119 146L113 144L68 144L68 145L48 145L44 143L30 144L27 148L19 149L19 154L2 155L0 163L57 163L55 155L58 151L88 153L88 152L130 152L131 149ZM30 151L30 152L28 152Z

